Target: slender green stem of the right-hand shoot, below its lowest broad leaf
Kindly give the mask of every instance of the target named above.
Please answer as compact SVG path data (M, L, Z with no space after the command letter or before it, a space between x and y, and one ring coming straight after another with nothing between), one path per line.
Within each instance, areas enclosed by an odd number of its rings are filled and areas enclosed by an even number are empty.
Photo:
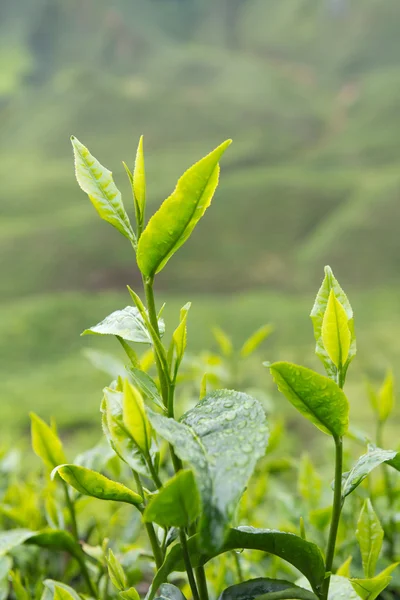
M335 437L335 488L333 493L333 510L331 527L329 530L328 547L326 551L326 572L332 571L335 556L336 537L339 527L340 513L342 511L342 471L343 471L343 440ZM322 586L321 598L327 600L330 584L330 575L326 577Z

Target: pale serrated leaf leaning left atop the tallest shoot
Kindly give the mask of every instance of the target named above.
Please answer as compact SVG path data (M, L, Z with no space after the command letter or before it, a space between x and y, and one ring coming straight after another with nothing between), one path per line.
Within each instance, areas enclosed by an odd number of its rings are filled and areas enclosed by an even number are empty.
M99 216L135 244L136 237L111 171L103 167L74 136L71 137L71 142L76 179L81 189L89 196Z

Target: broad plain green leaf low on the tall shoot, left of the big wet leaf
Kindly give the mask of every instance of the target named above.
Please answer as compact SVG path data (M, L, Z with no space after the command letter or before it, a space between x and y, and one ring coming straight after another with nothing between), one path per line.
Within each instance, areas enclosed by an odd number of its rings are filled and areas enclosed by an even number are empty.
M181 470L151 497L143 520L161 527L188 527L200 514L200 496L190 470Z

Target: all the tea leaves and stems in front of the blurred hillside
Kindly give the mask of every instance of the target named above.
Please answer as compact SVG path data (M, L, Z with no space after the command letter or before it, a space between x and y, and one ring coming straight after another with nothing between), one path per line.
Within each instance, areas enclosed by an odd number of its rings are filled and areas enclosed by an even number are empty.
M215 330L223 357L207 357L200 401L182 410L176 392L193 368L185 364L190 303L182 307L169 344L163 341L162 308L157 311L155 304L155 276L210 205L219 161L230 141L186 171L146 224L141 139L133 172L125 165L136 231L111 172L76 138L72 144L78 183L101 218L130 242L142 273L145 301L128 288L131 306L83 332L114 336L128 360L104 389L100 410L107 444L69 462L55 424L32 415L32 445L43 461L45 477L39 493L37 482L29 480L22 489L6 486L2 514L19 527L0 534L3 597L11 580L17 600L77 600L82 594L137 600L141 593L146 593L146 600L183 600L189 594L194 600L207 600L209 594L219 593L224 600L377 598L397 566L396 490L386 466L400 470L400 455L380 447L393 408L393 378L389 374L378 393L370 386L379 424L377 444L369 443L367 452L345 472L343 439L357 436L349 429L343 387L356 341L352 308L332 271L326 269L311 312L316 353L326 376L288 362L265 363L279 391L335 446L333 503L328 509L319 506L318 473L307 456L300 461L303 503L298 535L291 527L276 529L264 509L263 485L282 470L282 462L273 456L281 423L268 427L265 406L249 390L218 386L224 379L240 381L240 360L269 335L270 327L256 331L240 350L223 331ZM140 356L132 344L150 350ZM149 374L153 361L155 376ZM390 521L381 525L373 506L377 495L366 495L357 524L352 523L350 535L346 531L343 536L342 512L343 520L351 520L345 501L380 465L385 467L383 496L389 501ZM257 477L250 481L255 470ZM111 509L99 513L94 508L97 500L107 501ZM252 515L260 527L254 527ZM318 544L308 539L306 530L315 533ZM376 574L385 533L388 564ZM350 577L351 554L332 575L337 546L345 552L354 537L364 576ZM238 554L241 550L246 550L245 559ZM46 579L49 575L56 579Z

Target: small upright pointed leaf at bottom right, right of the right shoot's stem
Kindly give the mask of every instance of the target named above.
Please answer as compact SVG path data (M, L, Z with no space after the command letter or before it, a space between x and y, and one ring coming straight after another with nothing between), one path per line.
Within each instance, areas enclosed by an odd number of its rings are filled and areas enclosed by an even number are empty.
M365 577L375 575L376 563L381 552L384 532L369 499L364 502L357 523L356 538L360 546Z

